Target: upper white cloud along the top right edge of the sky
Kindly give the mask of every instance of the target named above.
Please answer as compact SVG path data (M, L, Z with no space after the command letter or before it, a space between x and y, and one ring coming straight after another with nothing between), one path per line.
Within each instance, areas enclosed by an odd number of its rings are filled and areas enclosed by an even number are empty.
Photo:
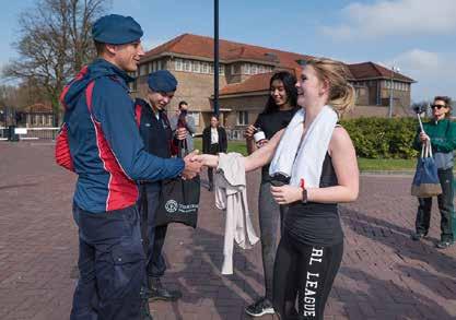
M342 9L343 22L324 26L336 39L451 34L456 28L455 0L395 0L373 4L353 2Z

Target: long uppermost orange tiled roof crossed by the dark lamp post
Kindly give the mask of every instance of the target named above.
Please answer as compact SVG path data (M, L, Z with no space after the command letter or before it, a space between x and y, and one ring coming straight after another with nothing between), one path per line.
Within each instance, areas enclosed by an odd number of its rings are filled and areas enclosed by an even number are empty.
M145 52L143 60L163 54L177 54L189 57L213 59L213 38L183 34L152 50ZM281 51L246 44L219 40L220 60L223 62L258 61L265 64L280 66L287 69L300 67L299 60L305 60L311 56Z

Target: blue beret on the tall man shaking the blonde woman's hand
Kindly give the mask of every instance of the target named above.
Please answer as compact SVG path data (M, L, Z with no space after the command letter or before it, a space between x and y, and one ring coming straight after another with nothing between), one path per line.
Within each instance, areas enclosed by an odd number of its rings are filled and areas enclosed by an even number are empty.
M144 33L131 16L108 14L100 17L92 26L94 40L110 45L124 45L139 40Z

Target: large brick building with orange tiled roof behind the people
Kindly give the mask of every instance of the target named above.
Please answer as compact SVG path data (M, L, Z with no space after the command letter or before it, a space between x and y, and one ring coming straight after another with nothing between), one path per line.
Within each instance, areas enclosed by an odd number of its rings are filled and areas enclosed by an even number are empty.
M273 72L295 72L311 56L220 40L220 112L222 125L243 129L264 109ZM387 116L393 83L394 115L407 114L414 81L373 62L347 64L356 91L356 107L349 117ZM213 104L213 39L183 34L145 52L131 84L133 94L144 96L150 72L166 69L179 85L168 107L186 100L198 132L209 125Z

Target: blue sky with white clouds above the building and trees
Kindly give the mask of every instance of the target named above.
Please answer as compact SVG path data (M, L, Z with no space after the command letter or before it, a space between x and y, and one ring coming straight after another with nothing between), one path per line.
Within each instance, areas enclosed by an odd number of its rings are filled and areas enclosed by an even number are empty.
M0 12L0 66L17 15L34 0L8 1ZM112 0L112 13L142 25L147 49L183 33L213 35L212 0ZM412 99L456 98L455 0L220 0L220 37L346 62L393 64L418 81Z

